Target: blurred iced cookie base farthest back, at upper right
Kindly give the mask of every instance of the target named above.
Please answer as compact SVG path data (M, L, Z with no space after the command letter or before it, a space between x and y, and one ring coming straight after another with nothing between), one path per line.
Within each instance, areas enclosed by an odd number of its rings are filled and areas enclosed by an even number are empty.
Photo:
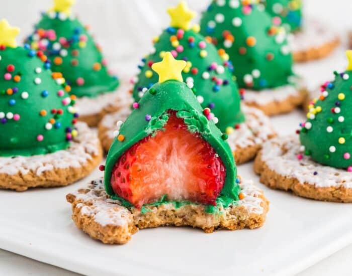
M339 45L340 39L336 32L314 19L308 19L304 28L293 34L291 41L295 62L324 58Z

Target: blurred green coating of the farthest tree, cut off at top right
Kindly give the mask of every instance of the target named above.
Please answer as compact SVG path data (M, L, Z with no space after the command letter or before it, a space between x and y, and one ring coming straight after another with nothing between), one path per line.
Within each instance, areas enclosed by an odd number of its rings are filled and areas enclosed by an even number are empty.
M295 32L302 27L301 0L266 0L266 9L273 17L280 17L287 32Z

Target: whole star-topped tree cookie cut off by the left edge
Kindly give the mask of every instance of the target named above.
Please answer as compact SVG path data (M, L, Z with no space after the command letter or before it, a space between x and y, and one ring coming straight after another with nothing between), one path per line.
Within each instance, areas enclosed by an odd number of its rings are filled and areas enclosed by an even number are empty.
M0 21L0 188L71 184L98 166L99 139L76 123L62 75L28 45L17 47L18 33Z

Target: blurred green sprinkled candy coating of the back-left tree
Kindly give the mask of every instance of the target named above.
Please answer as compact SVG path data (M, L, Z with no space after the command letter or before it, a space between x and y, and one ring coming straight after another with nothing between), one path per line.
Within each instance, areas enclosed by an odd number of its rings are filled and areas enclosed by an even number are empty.
M60 19L60 13L49 15L43 14L28 37L31 47L44 50L52 70L63 74L77 97L114 91L119 81L108 73L101 49L86 28L77 19Z

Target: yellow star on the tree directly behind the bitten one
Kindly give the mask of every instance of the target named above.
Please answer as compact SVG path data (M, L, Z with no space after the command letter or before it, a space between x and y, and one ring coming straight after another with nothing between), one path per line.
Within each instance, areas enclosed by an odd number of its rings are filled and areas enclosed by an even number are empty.
M188 9L187 3L182 1L175 8L168 8L167 13L171 17L170 26L181 28L185 31L191 29L191 20L196 17L196 13Z

